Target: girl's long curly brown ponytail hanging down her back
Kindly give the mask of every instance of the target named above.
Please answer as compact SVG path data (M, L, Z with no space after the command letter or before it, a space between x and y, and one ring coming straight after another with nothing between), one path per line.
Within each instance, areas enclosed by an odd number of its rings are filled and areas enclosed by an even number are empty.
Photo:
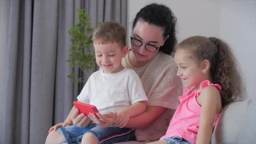
M237 98L243 97L243 80L237 69L238 65L235 56L227 43L216 37L210 37L209 40L217 47L217 53L212 61L210 72L213 83L221 85L224 92L222 105L240 100Z

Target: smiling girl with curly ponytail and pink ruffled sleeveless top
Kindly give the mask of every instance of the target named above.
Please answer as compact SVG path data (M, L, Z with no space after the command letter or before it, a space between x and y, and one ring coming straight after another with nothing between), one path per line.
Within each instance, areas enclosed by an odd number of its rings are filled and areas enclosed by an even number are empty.
M222 107L242 96L242 79L226 43L195 36L174 56L184 89L165 136L151 144L210 144Z

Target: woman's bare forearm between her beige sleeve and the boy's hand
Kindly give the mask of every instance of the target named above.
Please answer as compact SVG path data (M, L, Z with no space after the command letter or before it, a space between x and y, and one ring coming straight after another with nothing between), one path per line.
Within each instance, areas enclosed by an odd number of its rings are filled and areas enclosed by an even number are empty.
M126 128L147 128L157 120L167 108L159 106L147 106L145 112L135 117L130 117Z

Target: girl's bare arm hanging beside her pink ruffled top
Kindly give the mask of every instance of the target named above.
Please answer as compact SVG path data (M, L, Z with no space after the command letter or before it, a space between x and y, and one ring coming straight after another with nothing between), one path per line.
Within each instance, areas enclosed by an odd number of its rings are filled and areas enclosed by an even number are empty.
M215 115L222 110L221 95L216 87L208 86L197 97L197 102L202 109L196 143L210 144Z

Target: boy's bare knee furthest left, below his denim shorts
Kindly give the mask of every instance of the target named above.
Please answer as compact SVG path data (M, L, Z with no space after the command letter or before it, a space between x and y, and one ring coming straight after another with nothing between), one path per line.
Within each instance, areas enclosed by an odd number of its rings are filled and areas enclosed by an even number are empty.
M57 131L51 131L45 141L45 144L62 144L66 140L63 135Z

